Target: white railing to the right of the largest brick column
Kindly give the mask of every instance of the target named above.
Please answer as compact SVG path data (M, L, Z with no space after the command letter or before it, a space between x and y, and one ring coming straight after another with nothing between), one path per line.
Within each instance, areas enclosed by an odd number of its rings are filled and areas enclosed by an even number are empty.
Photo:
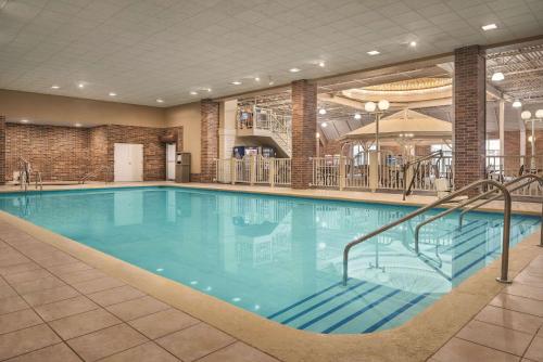
M487 178L497 182L509 182L525 173L543 171L543 155L535 156L485 156ZM543 196L543 186L532 182L526 188L512 192L515 196Z

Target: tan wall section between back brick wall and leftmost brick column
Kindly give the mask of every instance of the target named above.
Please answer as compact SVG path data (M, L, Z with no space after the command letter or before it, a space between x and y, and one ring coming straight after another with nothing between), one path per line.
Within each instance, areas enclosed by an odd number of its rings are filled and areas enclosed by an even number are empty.
M202 121L200 114L200 102L184 104L165 111L165 126L182 126L182 144L185 152L191 153L191 173L200 173L201 156L201 133L200 124Z

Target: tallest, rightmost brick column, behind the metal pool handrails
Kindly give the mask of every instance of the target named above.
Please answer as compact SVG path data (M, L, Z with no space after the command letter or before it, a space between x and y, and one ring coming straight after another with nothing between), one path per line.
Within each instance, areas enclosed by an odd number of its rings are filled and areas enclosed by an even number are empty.
M487 94L485 60L479 46L454 52L454 186L484 178Z

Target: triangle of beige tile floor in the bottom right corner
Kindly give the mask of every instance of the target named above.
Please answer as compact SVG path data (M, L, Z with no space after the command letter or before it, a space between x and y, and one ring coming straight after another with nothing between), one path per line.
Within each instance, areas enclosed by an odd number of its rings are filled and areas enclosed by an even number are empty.
M543 361L543 256L533 259L430 361Z

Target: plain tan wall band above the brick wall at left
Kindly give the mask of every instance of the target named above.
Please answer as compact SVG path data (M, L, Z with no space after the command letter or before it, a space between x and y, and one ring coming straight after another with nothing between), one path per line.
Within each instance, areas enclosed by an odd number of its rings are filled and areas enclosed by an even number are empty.
M41 125L166 127L164 108L2 89L0 113L9 121L26 118Z

